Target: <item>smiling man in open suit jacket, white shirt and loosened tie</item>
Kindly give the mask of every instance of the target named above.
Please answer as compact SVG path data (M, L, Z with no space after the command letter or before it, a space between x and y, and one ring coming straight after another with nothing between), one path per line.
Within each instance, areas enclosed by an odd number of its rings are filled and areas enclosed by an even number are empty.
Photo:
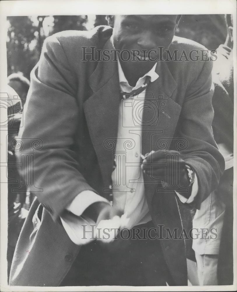
M212 64L201 60L203 46L174 37L179 18L109 15L113 29L46 39L31 72L18 152L19 159L34 153L37 199L10 285L187 285L184 239L164 239L158 227L181 232L177 200L199 208L224 160L211 128ZM180 61L162 61L157 47ZM101 61L101 52L110 58ZM196 61L184 62L183 52ZM90 223L96 240L84 238ZM123 240L119 233L105 245L99 226L156 227L160 239Z

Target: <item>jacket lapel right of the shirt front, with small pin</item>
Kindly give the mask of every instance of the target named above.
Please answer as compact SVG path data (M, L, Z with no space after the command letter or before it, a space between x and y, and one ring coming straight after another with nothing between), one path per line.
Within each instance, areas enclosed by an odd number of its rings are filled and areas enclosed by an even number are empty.
M166 62L157 63L159 78L150 83L146 90L143 109L142 154L151 150L168 150L178 122L181 106L174 101L177 86ZM151 207L152 196L157 183L144 176L145 192L148 206ZM151 209L150 209L151 210Z

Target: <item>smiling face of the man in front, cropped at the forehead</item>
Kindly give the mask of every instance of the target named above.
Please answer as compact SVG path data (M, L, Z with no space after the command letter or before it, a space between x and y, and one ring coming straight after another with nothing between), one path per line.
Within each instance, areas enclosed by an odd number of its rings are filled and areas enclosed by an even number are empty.
M159 49L166 50L171 43L175 29L177 15L113 15L109 24L113 27L113 44L116 50L128 50L131 56L134 50L140 52L140 57L145 56L146 61L136 62L139 66L151 67L159 60ZM155 50L148 52L151 50ZM138 53L135 53L138 55ZM127 55L124 53L124 59ZM132 59L132 58L131 58ZM131 59L128 62L131 62ZM131 64L134 61L131 62Z

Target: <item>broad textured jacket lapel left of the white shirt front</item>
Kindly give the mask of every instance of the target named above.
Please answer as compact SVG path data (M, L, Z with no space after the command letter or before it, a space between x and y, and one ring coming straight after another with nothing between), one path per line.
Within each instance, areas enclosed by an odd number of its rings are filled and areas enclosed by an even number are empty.
M112 50L108 39L104 50ZM89 134L97 155L103 184L108 187L113 171L113 150L117 140L120 90L117 62L99 61L89 78L93 94L84 102Z

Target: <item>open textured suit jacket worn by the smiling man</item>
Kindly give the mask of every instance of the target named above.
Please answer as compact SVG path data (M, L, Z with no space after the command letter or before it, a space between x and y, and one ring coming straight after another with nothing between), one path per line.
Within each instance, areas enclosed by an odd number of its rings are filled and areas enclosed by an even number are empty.
M113 143L108 139L116 141L120 102L117 62L82 61L81 47L113 49L111 34L111 28L101 26L90 32L50 36L31 72L18 157L20 160L26 153L34 154L31 189L37 200L17 244L10 285L59 285L80 249L59 224L59 215L84 190L108 196L106 189L113 170ZM175 37L169 49L181 55L183 50L188 54L192 49L205 48ZM169 117L167 121L160 115L157 126L144 126L142 132L143 155L162 147L182 149L182 158L192 165L198 178L197 207L215 189L224 168L211 128L211 69L207 61L158 62L159 78L149 84L147 93L152 93L155 100L161 96L167 100ZM146 107L144 124L150 114ZM22 171L27 173L24 167ZM164 194L157 190L157 183L144 179L155 225L164 225L171 232L175 227L181 230L175 194ZM175 284L187 285L183 237L160 241Z

